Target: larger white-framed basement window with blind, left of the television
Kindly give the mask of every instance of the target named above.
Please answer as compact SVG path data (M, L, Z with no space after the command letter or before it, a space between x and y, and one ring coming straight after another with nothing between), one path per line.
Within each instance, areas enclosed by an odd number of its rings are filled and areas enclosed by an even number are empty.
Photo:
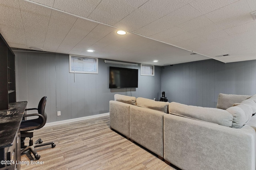
M98 74L98 58L69 55L69 72Z

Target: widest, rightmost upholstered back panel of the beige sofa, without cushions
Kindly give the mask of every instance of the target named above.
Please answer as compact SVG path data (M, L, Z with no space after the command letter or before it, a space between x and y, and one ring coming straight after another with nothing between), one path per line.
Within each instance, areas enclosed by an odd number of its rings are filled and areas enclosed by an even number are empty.
M183 170L255 170L255 130L164 115L164 159Z

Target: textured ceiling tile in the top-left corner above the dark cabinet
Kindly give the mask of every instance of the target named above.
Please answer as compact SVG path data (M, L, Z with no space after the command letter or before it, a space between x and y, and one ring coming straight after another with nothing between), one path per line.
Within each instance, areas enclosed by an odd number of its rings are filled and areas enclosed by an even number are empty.
M27 48L18 1L1 0L0 16L0 32L10 47Z

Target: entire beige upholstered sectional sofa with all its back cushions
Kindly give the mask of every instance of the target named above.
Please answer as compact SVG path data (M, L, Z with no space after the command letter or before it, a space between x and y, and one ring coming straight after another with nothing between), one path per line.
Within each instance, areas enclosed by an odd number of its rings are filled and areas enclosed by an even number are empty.
M256 95L219 94L217 108L116 94L110 128L183 170L256 169Z

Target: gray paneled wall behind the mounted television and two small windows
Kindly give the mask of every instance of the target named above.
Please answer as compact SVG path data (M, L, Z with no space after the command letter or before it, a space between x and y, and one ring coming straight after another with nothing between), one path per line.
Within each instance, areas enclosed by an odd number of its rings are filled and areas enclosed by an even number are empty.
M47 96L47 122L73 119L109 112L114 94L158 99L161 94L161 68L155 66L155 76L140 76L138 66L106 64L99 59L98 74L69 73L69 56L55 53L14 52L16 55L17 101L28 101L28 108L37 107ZM138 88L108 88L109 66L136 68ZM57 116L56 111L61 111Z

